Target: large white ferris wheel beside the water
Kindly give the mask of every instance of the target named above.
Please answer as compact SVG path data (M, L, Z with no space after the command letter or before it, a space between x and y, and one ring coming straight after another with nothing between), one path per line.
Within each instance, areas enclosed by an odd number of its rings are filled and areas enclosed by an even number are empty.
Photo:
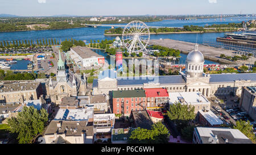
M150 31L147 25L141 21L134 20L123 29L122 42L129 53L147 52L150 40Z

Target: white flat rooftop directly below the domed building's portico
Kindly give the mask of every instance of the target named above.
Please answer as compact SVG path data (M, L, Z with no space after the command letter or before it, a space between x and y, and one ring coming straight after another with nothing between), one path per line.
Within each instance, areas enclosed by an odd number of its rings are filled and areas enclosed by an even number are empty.
M181 102L187 104L209 103L209 100L199 92L176 92L169 93L170 103Z

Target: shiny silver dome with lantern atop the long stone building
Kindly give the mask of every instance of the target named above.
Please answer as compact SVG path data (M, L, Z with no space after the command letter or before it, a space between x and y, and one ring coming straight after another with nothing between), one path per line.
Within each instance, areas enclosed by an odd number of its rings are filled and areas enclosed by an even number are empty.
M194 63L203 63L204 62L204 55L197 50L198 45L195 45L195 49L188 53L187 62L194 62Z

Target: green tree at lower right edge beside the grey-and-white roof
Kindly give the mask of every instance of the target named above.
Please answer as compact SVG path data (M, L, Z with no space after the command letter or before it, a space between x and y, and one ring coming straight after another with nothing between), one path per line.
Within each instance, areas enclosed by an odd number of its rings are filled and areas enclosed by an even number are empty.
M236 125L233 125L233 129L238 129L251 141L256 141L255 134L253 133L253 125L250 124L249 120L247 120L247 122L244 120L237 121Z

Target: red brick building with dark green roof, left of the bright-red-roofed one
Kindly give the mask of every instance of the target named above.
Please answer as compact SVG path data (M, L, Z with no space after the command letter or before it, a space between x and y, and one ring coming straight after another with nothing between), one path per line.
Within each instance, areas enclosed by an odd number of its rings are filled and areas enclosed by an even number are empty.
M144 90L113 91L113 113L130 116L131 111L141 111L146 108Z

